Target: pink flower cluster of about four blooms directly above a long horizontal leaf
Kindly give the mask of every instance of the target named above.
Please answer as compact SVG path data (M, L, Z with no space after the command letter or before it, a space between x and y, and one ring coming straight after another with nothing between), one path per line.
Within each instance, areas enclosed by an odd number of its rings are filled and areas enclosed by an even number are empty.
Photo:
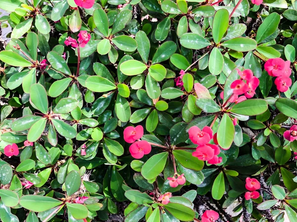
M259 79L253 75L251 70L244 70L241 72L237 69L237 73L241 78L231 83L230 88L233 89L233 94L237 96L245 94L245 97L252 98L260 83Z

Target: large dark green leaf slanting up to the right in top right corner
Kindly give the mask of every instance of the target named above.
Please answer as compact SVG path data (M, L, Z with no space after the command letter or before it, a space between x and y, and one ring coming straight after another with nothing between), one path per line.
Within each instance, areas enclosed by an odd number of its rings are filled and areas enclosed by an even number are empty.
M281 16L276 12L268 15L257 30L257 43L261 43L266 37L272 35L276 31L280 20Z

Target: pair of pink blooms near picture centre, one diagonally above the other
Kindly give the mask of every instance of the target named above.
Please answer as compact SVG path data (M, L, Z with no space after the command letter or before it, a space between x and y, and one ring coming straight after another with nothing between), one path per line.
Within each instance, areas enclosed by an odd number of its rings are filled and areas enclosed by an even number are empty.
M141 159L145 154L151 151L151 146L148 141L140 140L143 135L144 128L141 125L136 127L128 126L124 129L124 140L129 144L133 143L129 151L135 159Z

